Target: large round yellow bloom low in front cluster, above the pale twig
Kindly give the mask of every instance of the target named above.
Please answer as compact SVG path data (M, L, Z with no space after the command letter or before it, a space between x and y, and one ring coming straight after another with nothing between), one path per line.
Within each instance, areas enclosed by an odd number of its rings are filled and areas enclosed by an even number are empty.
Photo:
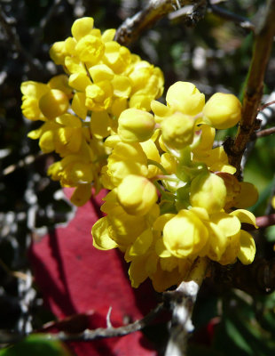
M199 253L208 240L208 229L189 210L180 210L163 229L163 242L172 255L183 258Z

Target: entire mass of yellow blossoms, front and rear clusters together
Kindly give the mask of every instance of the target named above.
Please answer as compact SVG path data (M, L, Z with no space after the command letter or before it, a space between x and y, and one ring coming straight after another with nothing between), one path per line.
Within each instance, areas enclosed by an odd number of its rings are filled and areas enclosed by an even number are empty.
M101 250L118 247L130 263L130 280L157 291L178 284L198 257L221 264L252 263L255 242L241 223L257 199L253 184L238 182L216 129L240 121L241 104L216 93L206 103L191 83L161 96L161 70L103 34L91 18L76 20L72 37L53 44L51 58L66 74L48 84L25 82L22 111L43 125L28 134L43 152L61 157L49 174L75 187L83 205L102 187L110 190L92 228Z

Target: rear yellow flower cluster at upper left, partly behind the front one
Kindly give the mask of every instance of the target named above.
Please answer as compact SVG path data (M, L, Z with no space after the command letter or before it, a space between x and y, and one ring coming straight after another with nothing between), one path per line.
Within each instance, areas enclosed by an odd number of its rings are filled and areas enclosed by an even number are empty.
M43 152L62 158L48 173L64 187L75 187L72 201L83 205L101 188L99 174L109 149L103 141L117 133L123 110L149 111L163 90L161 70L114 41L115 30L101 34L92 18L75 20L72 36L52 45L51 59L66 74L49 83L22 83L22 112L43 125L28 134Z

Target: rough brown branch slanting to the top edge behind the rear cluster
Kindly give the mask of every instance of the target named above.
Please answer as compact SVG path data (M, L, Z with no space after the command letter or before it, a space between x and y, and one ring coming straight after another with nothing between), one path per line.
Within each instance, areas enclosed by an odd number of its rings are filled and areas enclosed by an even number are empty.
M206 0L150 0L143 10L122 23L114 39L123 45L130 44L146 28L153 27L157 20L189 4L203 5Z

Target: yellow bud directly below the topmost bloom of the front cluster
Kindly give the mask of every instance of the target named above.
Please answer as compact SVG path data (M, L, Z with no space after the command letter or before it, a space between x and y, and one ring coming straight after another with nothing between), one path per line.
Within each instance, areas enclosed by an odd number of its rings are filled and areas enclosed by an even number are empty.
M177 111L161 122L163 141L172 149L181 150L193 142L195 120Z

